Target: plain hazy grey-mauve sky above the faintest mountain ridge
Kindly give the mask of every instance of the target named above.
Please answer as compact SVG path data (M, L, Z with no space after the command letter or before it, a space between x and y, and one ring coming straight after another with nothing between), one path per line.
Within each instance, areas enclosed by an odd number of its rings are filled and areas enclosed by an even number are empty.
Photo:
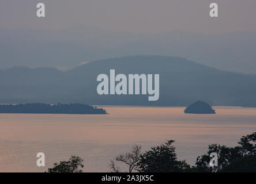
M46 5L46 18L36 17L39 2ZM209 17L211 2L219 4L219 18ZM255 32L255 8L255 0L1 0L0 25L54 30L91 26L133 33Z

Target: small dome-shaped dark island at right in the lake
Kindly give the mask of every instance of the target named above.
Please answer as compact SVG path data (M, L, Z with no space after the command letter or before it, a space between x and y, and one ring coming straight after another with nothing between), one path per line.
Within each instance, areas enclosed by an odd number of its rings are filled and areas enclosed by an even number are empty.
M197 101L189 105L184 112L189 114L216 114L215 110L203 101Z

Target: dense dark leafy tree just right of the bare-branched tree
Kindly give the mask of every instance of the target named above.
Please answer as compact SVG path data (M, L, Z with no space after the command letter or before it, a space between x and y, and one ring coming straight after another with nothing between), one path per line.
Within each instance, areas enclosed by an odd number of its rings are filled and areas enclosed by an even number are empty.
M174 140L152 147L141 155L137 170L143 173L172 173L189 171L190 166L183 161L178 161L175 154Z

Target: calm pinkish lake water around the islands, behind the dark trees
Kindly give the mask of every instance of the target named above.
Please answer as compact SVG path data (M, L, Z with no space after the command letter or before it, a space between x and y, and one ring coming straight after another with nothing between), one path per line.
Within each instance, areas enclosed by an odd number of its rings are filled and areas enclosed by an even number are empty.
M256 131L256 108L214 107L217 114L184 114L185 108L104 109L110 114L0 114L0 171L43 172L77 155L84 159L84 172L108 172L110 160L131 145L148 150L167 139L175 140L178 159L194 164L208 144L235 146ZM46 155L46 167L36 166L37 152Z

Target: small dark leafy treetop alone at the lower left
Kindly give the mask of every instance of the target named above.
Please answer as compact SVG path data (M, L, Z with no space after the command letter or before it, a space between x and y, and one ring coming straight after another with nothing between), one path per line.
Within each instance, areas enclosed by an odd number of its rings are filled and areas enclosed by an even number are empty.
M48 168L48 173L82 173L80 168L84 160L78 156L71 156L69 161L61 161L59 164L54 163L54 167Z

